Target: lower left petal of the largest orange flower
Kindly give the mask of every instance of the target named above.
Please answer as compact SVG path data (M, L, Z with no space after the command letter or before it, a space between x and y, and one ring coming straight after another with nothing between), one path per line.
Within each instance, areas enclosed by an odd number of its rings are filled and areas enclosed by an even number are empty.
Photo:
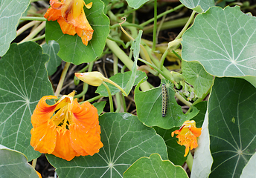
M51 154L56 143L56 128L54 122L44 122L31 129L31 146L42 154Z

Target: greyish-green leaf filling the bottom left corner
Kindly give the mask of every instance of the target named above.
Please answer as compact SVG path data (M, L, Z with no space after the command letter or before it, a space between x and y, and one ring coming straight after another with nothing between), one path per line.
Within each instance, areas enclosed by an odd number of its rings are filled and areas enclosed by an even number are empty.
M10 149L0 149L0 177L38 177L33 167L28 164L24 154Z

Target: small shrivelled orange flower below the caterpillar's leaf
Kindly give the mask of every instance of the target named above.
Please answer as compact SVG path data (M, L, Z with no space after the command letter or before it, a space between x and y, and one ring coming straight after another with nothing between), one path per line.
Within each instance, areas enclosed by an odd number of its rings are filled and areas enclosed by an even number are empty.
M196 128L196 122L191 121L185 121L179 130L173 131L171 133L172 137L175 134L178 134L176 138L179 139L178 144L179 145L185 145L185 155L188 155L188 151L191 148L196 148L198 146L197 144L197 137L201 135L202 128Z

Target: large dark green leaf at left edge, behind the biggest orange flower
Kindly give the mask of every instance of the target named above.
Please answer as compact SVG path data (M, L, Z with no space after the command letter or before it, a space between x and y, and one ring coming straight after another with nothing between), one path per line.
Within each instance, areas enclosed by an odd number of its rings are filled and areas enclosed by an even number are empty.
M34 42L11 44L0 60L0 144L40 156L30 145L31 115L42 96L53 94L45 69L48 55Z

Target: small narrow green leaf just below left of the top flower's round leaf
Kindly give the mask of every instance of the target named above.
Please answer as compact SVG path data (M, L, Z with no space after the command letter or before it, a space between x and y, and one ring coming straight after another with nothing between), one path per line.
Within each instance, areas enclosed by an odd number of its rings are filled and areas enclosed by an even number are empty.
M59 44L55 42L54 40L49 41L48 44L42 44L42 50L44 53L48 54L50 56L50 60L46 62L45 66L48 71L48 75L51 76L54 74L57 70L57 67L61 64L61 59L59 56L57 56L57 53L60 50Z

